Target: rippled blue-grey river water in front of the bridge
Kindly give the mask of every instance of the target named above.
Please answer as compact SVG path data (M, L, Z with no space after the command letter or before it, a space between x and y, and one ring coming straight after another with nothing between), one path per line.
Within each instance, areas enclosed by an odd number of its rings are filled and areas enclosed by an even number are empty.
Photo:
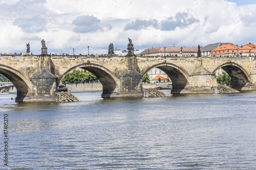
M256 91L74 94L81 102L15 103L0 93L0 169L256 169Z

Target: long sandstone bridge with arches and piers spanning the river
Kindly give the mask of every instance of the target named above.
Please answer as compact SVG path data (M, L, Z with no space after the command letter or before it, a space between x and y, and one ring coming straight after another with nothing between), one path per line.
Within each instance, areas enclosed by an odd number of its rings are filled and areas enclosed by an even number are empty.
M143 96L142 77L155 67L172 80L172 93L213 93L218 68L228 73L234 89L256 90L255 61L253 57L1 55L0 73L17 88L16 102L55 101L57 85L77 68L100 80L102 97Z

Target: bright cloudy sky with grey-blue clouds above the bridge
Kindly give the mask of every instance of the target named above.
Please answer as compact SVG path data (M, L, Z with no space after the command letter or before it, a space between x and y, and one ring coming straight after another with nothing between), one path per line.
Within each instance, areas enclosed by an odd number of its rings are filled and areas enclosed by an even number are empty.
M106 54L126 50L256 43L250 0L0 0L0 53Z

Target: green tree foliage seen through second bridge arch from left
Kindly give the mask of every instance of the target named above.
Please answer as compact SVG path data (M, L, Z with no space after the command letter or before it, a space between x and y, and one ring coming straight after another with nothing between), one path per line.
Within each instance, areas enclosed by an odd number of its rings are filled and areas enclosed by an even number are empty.
M84 72L82 70L73 70L66 75L61 82L67 83L84 83L89 81L97 81L98 78L91 72Z

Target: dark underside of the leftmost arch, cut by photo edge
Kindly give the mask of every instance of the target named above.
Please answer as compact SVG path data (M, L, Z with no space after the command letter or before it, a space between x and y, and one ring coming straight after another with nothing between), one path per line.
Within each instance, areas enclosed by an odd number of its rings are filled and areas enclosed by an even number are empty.
M9 79L17 89L17 98L23 99L29 93L29 87L27 83L17 74L4 68L0 68L0 74ZM17 100L16 98L16 100Z

